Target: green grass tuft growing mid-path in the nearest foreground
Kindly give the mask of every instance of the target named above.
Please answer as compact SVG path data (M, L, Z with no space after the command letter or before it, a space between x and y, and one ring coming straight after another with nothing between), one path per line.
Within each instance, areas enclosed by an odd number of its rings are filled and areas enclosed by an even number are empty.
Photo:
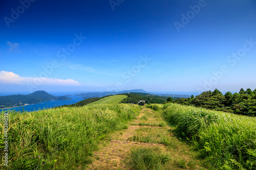
M134 170L160 170L167 169L164 165L169 160L171 158L158 147L137 148L132 150L127 165Z

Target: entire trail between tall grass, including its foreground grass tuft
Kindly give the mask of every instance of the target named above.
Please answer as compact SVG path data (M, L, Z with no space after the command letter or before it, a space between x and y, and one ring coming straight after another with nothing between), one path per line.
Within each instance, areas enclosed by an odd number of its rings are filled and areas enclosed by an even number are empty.
M144 107L127 129L102 141L88 169L206 169L173 129L160 112Z

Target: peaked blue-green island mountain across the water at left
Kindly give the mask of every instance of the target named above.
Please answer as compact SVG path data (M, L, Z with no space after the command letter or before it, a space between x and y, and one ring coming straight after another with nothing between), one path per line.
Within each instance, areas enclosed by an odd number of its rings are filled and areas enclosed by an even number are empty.
M56 97L47 93L46 91L40 90L35 91L31 94L22 95L6 95L0 96L0 108L23 106L25 104L35 104L51 100L70 100L67 96Z

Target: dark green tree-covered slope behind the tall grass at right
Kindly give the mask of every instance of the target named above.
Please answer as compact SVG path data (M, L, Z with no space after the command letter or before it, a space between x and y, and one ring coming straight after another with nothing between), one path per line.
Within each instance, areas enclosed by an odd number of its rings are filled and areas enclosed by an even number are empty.
M204 91L196 97L191 95L191 98L181 98L174 103L256 116L256 89L252 91L248 88L245 91L241 88L239 93L232 94L228 91L224 95L215 89L214 91Z

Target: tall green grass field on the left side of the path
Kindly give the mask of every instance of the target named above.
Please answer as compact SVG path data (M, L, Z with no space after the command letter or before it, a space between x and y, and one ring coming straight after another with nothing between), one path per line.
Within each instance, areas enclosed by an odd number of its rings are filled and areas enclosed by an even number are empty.
M136 105L104 104L9 112L9 166L1 166L5 169L85 167L91 162L90 156L99 141L112 131L124 128L139 110ZM0 116L3 129L3 113ZM3 131L1 135L3 137ZM0 154L3 158L3 150Z

